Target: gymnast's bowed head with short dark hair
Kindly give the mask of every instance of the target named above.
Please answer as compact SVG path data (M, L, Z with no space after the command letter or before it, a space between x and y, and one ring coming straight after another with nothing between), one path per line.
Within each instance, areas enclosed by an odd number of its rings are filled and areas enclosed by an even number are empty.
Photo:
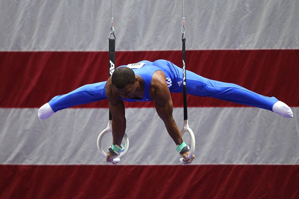
M111 82L114 90L123 98L131 98L136 90L137 77L128 67L118 67L114 70Z

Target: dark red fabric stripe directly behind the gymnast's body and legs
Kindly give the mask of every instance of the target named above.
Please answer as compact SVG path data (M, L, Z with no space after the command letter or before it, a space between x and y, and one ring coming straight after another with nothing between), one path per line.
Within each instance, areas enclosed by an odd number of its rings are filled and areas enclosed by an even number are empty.
M181 51L116 52L116 65L167 59L181 66ZM289 106L299 106L299 50L189 50L187 70L209 79L239 84ZM108 52L0 52L0 107L37 108L56 95L108 77ZM173 94L182 107L182 94ZM190 107L244 106L208 97L188 96ZM107 108L107 100L80 108ZM154 107L127 103L126 107Z

